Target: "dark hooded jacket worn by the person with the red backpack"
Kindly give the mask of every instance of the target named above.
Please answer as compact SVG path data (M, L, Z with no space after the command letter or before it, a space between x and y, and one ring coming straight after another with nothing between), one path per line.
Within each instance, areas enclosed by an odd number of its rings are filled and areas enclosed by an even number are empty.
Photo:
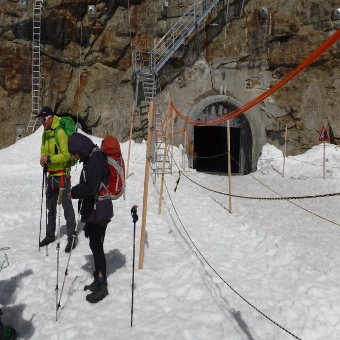
M98 201L101 182L108 185L109 167L106 155L96 148L92 140L80 133L68 138L69 153L79 153L80 162L84 163L79 184L71 189L74 199L83 199L81 209L83 222L109 221L113 217L113 206L110 199Z

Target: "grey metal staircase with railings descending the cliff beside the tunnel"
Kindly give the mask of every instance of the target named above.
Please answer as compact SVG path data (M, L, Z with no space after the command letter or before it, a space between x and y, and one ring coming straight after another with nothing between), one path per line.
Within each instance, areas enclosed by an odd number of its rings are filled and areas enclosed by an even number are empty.
M164 106L160 107L157 100L156 80L158 79L158 71L185 42L187 37L193 33L197 25L204 20L219 1L220 0L196 0L151 51L141 51L138 48L133 51L132 73L133 76L140 76L146 103L145 108L147 111L149 110L151 101L155 101L156 106L156 161L153 166L153 171L156 174L162 173L165 147ZM143 113L141 112L141 124L143 128L143 124L147 124L147 120L142 119L142 116ZM166 172L171 172L168 153Z

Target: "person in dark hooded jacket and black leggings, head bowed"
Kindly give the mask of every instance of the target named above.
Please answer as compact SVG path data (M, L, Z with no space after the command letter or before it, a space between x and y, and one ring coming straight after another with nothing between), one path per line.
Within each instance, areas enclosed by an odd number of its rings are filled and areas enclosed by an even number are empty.
M102 183L108 186L109 167L105 153L80 133L68 138L68 151L73 158L84 163L79 184L72 187L69 197L79 199L78 209L81 207L81 220L85 222L85 237L90 239L95 266L94 281L84 290L92 291L86 295L86 300L96 303L108 294L103 243L107 224L113 217L113 206L111 199L98 200L98 193Z

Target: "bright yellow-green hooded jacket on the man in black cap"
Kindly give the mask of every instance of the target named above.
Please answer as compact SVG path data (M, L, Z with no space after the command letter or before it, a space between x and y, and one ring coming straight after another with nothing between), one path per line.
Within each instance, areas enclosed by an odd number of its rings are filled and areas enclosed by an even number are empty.
M51 157L51 163L48 164L48 171L58 171L67 168L69 160L68 152L68 137L63 129L58 130L59 147L55 143L54 130L60 125L60 120L57 116L53 116L51 128L44 130L42 134L42 142L40 155L47 154ZM60 176L61 173L50 173L50 176Z

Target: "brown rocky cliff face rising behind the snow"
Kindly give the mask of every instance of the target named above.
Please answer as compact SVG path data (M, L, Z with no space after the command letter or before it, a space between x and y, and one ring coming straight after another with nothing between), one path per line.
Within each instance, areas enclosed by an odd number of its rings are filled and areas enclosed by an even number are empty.
M28 0L27 11L20 11L17 0L2 1L0 9L1 148L25 134L31 115L33 2ZM134 102L132 48L150 51L193 2L169 1L164 18L161 0L45 1L42 106L78 116L85 131L96 136L109 133L126 140ZM241 3L221 0L198 34L161 69L164 102L172 100L189 113L224 85L228 98L244 104L276 84L340 27L340 20L331 18L340 7L338 0L249 0L242 10ZM96 6L94 19L88 15L90 4ZM253 143L282 145L286 124L290 154L317 144L323 124L338 143L339 62L338 42L248 112ZM137 141L142 138L140 125L136 118ZM175 126L179 130L187 125L177 118Z

